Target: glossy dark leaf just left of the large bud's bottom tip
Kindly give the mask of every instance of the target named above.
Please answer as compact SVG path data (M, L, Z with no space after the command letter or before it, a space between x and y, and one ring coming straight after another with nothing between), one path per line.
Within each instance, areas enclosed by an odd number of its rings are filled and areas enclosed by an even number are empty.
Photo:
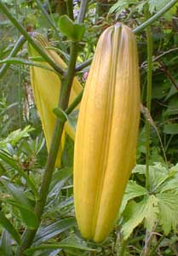
M33 242L34 246L42 244L44 241L48 241L49 239L58 236L60 233L65 230L70 229L71 227L76 225L75 218L65 218L56 221L53 224L50 224L46 227L41 226L37 232L37 236Z

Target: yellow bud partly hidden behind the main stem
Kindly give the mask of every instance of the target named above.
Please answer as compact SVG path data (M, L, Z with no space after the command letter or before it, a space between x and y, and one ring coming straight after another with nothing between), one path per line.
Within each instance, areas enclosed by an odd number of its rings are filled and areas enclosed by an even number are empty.
M50 56L51 59L53 59L53 61L55 61L60 67L64 69L66 68L66 63L60 58L59 55L57 55L55 50L46 49L46 47L49 47L49 43L45 38L43 38L42 35L35 34L34 39L36 40L37 44L40 44L40 46L43 47L43 50ZM32 57L38 55L36 50L33 49L31 45L29 45L28 49L29 55ZM46 62L42 62L42 64L50 67ZM37 105L37 111L42 121L43 132L46 138L47 148L49 150L56 119L53 109L55 109L58 105L61 90L60 77L52 71L33 66L31 67L31 82L34 99ZM78 79L74 78L69 102L72 102L82 89L83 87L78 82ZM74 127L66 122L55 166L60 166L61 151L65 142L65 131L73 140L75 138Z

